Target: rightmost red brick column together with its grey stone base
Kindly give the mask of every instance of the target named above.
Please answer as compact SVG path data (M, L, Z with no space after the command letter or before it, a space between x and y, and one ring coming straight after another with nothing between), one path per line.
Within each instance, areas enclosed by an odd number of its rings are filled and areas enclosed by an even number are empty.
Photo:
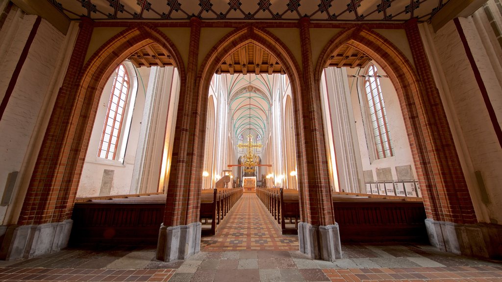
M427 219L427 233L432 245L464 255L499 256L500 234L497 225L476 224L472 200L453 142L448 120L432 70L420 37L417 20L405 24L410 48L420 82L421 95L416 99L422 118L413 127L421 128L417 170L422 186ZM412 120L412 119L410 119ZM416 124L419 123L419 124Z

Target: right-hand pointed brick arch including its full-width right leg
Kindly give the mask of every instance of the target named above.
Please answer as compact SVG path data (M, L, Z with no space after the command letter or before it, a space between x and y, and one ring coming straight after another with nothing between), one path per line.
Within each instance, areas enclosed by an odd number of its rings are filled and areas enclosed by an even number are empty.
M439 94L423 86L426 79L433 83L432 77L419 79L416 67L394 44L359 26L341 32L325 46L314 73L316 87L320 85L321 73L330 55L344 44L377 62L396 88L427 217L435 221L475 223L474 209ZM412 52L419 51L412 48Z

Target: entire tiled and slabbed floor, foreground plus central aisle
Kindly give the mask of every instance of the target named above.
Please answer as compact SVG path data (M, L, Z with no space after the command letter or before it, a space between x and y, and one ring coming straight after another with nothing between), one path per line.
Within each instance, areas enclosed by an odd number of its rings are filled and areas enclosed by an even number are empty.
M286 245L276 239L282 235L253 197L240 200L218 234L203 238L202 251L184 261L156 260L155 246L69 248L27 260L0 261L0 281L502 281L500 261L458 256L428 245L343 244L343 258L334 262L307 258L296 250L297 243L288 246L295 250L281 250ZM247 209L250 216L237 207ZM257 219L265 222L264 229L258 229L265 235L253 234L258 232L253 227L260 227ZM239 222L247 226L239 230L245 240L226 245L225 240L238 237L229 230L239 227ZM267 243L255 241L264 238ZM236 246L245 250L232 249Z

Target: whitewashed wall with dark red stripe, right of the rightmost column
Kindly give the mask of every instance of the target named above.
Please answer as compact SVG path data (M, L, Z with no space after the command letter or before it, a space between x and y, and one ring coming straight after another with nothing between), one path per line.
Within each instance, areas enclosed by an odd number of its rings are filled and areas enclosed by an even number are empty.
M459 18L475 67L486 87L488 102L500 125L502 87L497 56L500 46L490 40L493 32L486 21L482 10L468 18ZM436 33L430 26L422 25L421 32L476 216L481 222L501 224L502 150L455 23L447 23Z

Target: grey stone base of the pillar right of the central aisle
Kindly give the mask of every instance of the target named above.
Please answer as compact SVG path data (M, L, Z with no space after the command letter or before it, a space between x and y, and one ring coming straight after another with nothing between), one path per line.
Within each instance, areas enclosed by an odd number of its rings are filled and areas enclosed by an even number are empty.
M340 231L338 223L315 226L305 222L298 223L300 252L312 259L334 261L342 258Z

